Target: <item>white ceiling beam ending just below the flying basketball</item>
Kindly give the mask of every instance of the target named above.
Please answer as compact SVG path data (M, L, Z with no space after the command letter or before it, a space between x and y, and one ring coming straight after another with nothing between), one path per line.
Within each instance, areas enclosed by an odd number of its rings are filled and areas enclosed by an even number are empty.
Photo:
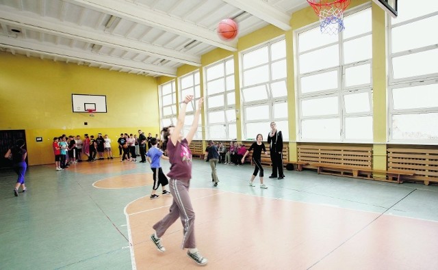
M199 40L201 42L216 46L228 51L237 51L237 40L224 41L221 40L215 31L206 29L188 23L181 19L169 16L169 14L151 10L146 5L141 5L135 2L120 1L120 0L64 0L75 5L81 5L86 8L98 10L124 18L128 21L151 25L158 29L176 33L180 36Z

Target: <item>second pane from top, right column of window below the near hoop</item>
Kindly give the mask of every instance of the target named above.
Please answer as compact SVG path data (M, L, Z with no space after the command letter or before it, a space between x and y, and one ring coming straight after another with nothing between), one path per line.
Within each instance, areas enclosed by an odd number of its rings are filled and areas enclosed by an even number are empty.
M371 57L371 35L344 42L344 64L371 59Z

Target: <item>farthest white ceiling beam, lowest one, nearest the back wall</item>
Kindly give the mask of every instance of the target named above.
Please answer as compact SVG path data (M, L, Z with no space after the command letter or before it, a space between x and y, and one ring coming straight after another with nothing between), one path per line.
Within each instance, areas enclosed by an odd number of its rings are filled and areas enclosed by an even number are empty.
M167 68L164 66L154 66L141 62L133 62L127 59L108 57L106 55L97 55L95 53L84 53L82 51L74 51L72 49L64 49L62 46L51 46L40 44L37 42L29 42L17 38L8 38L0 36L0 44L5 48L29 51L31 53L39 53L40 55L51 55L53 57L64 57L70 60L85 61L99 65L115 66L118 68L127 68L142 72L149 72L155 75L164 75L169 77L177 76L176 68Z

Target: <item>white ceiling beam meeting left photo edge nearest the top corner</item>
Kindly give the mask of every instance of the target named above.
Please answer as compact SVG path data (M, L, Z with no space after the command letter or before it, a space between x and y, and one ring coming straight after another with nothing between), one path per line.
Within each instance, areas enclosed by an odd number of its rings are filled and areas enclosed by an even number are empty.
M105 34L101 31L94 31L92 29L84 30L83 28L58 21L54 18L41 18L38 15L29 12L22 15L21 12L16 12L16 10L8 10L7 8L4 8L3 10L0 10L0 23L8 23L9 25L25 27L42 33L49 33L64 38L133 51L135 53L153 55L158 58L169 59L191 66L201 66L201 57L196 55L181 53L179 51L147 44L137 40L127 40L126 38Z

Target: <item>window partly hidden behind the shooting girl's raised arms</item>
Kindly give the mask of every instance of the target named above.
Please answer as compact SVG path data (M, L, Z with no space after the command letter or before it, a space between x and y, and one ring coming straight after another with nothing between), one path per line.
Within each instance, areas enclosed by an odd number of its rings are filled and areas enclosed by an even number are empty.
M190 127L193 123L194 111L198 105L198 99L201 98L201 81L199 78L199 71L192 72L189 75L185 75L179 78L179 96L181 100L187 95L193 95L194 100L187 105L185 111L185 121L183 127L183 134L187 134L190 131ZM198 131L195 133L193 139L202 139L202 126L201 115L199 116Z

